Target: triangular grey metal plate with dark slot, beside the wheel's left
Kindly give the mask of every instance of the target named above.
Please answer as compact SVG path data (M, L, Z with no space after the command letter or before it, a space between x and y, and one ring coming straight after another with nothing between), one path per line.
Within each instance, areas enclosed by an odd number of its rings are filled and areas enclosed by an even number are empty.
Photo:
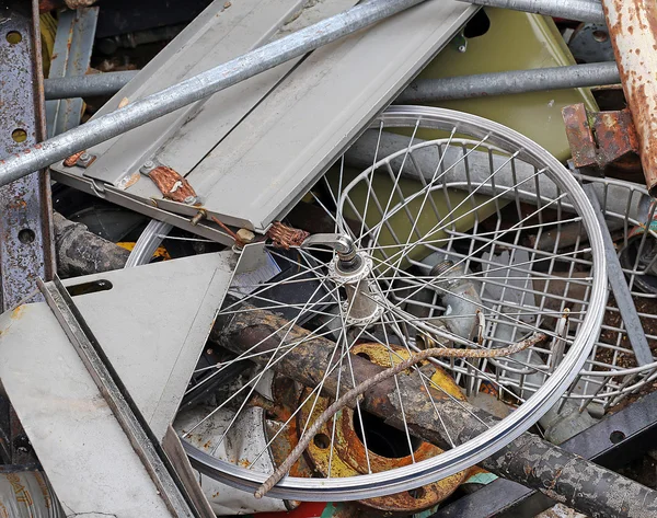
M114 285L74 301L158 438L192 378L234 257L220 252L65 280Z

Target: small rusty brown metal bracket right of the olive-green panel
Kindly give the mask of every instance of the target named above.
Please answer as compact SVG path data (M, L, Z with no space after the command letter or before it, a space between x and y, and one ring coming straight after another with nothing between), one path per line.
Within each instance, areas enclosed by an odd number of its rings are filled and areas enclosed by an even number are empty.
M638 137L627 108L591 113L584 104L573 104L562 114L575 166L604 168L638 152Z

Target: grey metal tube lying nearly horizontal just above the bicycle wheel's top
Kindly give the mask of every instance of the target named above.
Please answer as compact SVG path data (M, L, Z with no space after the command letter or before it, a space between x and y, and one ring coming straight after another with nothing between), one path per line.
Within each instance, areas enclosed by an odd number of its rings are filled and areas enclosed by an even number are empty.
M396 99L395 104L423 104L456 99L602 87L620 82L621 76L613 61L509 70L456 78L422 79L411 83Z

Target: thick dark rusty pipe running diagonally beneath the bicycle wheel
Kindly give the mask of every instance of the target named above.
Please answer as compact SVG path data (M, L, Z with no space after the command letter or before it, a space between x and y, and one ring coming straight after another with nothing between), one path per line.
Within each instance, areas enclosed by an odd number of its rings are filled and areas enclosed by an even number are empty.
M277 337L277 330L284 330L280 337ZM214 342L235 354L263 352L262 357L252 358L260 364L269 360L270 353L265 352L277 347L281 337L285 337L285 343L299 345L285 349L286 355L275 364L276 370L304 385L318 385L330 366L335 344L323 337L309 339L307 330L298 326L290 329L289 322L280 316L254 309L226 314L217 320L211 335ZM359 356L353 356L350 364L357 383L382 370L382 367ZM335 396L338 382L344 383L341 387L344 393L351 388L347 380L350 380L350 376L338 378L336 369L324 381L324 395ZM400 376L397 381L401 394L396 393L395 381L389 379L364 394L364 408L403 430L399 405L401 395L405 421L412 434L440 448L450 447L446 429L454 442L463 444L482 434L486 429L484 423L493 424L496 421L486 412L454 402L438 391L430 394L431 402L417 376ZM434 404L441 419L436 419ZM481 465L499 476L539 490L588 516L657 516L657 492L561 450L532 434L523 434Z

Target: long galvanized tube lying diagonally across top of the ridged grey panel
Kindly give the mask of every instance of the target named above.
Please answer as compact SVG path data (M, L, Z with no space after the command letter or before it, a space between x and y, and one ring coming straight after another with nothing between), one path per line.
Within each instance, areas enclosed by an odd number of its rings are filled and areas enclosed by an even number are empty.
M422 3L424 0L371 0L297 31L206 72L135 101L107 115L0 160L0 185L108 140L164 114L200 101L277 65Z

